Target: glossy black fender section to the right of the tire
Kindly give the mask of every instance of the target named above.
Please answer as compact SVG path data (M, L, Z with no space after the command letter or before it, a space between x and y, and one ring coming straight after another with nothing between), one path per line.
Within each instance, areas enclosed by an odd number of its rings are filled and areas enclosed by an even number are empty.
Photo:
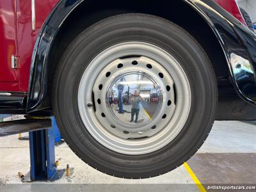
M210 20L212 30L218 37L227 58L230 77L237 94L250 104L256 105L256 35L236 20L214 1L191 0L198 12L204 12L205 20ZM220 15L223 17L220 17ZM246 70L232 65L231 56L236 54L250 62Z

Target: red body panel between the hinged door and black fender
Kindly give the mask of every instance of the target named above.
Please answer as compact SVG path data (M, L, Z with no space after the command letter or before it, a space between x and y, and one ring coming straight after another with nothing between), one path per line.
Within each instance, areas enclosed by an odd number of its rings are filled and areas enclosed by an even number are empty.
M59 0L35 0L36 30L31 29L31 1L17 1L17 41L20 70L20 92L28 92L31 56L36 37L47 15Z

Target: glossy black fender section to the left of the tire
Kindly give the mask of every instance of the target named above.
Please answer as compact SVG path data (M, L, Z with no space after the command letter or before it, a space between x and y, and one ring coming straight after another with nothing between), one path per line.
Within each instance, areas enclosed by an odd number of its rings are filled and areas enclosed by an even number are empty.
M27 111L40 111L51 106L51 98L47 94L48 82L45 81L49 74L49 52L51 51L54 38L58 29L68 15L83 0L65 0L56 4L54 10L45 21L34 47L30 77Z

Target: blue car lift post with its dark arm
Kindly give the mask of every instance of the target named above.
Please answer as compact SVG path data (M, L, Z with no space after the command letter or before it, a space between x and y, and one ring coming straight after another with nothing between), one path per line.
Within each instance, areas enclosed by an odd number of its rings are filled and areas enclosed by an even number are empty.
M55 119L33 118L0 122L0 136L28 131L31 164L30 179L54 180L54 176L57 173L54 144L55 141L61 138Z

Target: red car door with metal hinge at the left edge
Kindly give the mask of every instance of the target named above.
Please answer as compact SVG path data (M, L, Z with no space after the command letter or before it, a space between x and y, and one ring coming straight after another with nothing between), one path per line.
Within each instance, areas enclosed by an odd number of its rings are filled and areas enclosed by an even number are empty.
M16 8L15 0L0 0L0 91L19 91Z

